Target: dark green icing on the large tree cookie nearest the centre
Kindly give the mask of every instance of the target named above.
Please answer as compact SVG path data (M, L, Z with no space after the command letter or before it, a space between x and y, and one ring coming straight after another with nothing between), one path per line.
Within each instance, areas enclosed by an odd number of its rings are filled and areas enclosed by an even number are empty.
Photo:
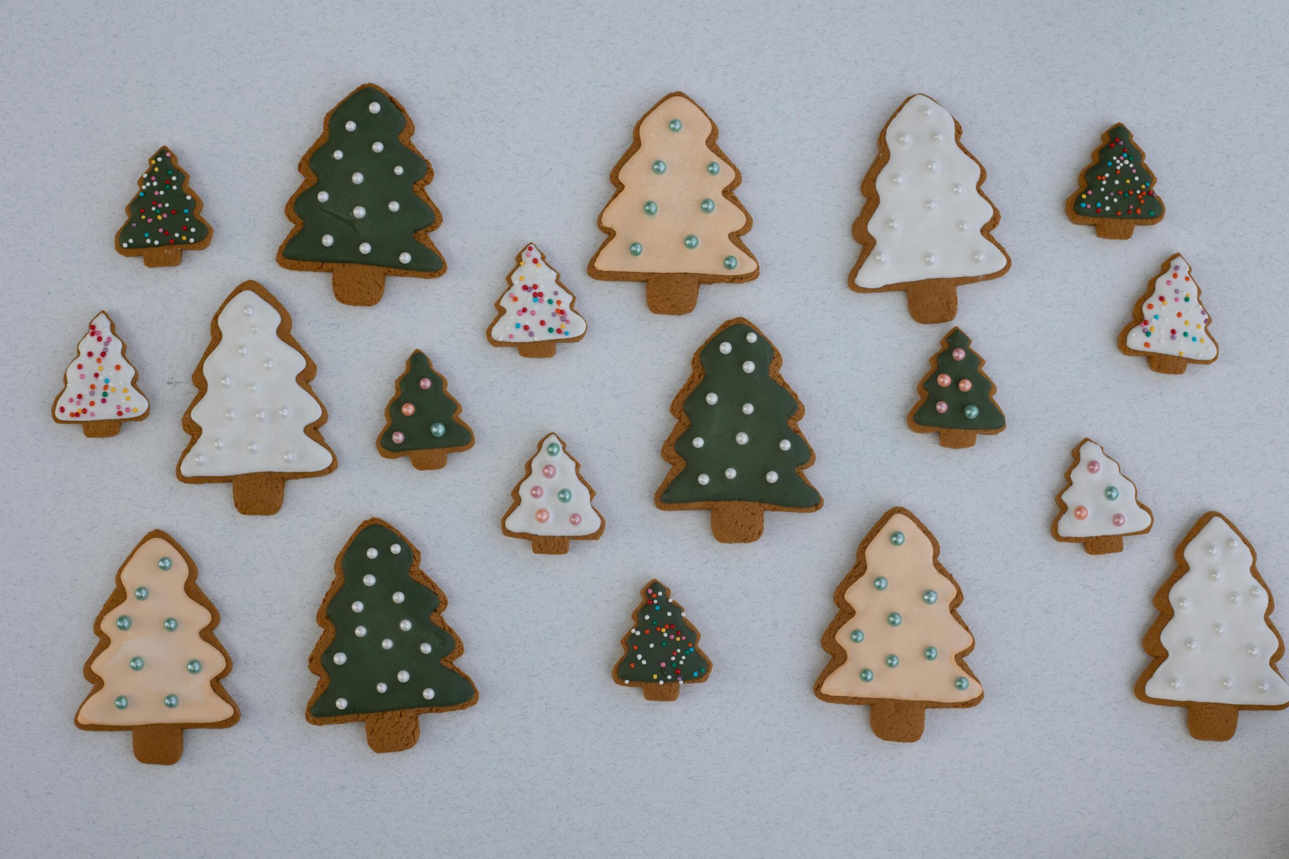
M721 344L730 344L727 354ZM806 438L788 426L798 404L771 379L773 357L770 340L741 322L718 331L703 348L703 381L683 404L690 426L674 446L684 469L663 491L664 504L754 501L800 509L821 502L815 487L797 474L811 451ZM751 372L742 370L748 361L754 364ZM708 403L708 394L717 395L714 404ZM750 415L744 412L745 403L751 403ZM744 444L737 440L740 433L748 437ZM701 447L693 446L696 438L703 439ZM733 478L726 477L727 469L735 470ZM770 471L776 475L773 483L767 479ZM705 486L700 482L704 474Z

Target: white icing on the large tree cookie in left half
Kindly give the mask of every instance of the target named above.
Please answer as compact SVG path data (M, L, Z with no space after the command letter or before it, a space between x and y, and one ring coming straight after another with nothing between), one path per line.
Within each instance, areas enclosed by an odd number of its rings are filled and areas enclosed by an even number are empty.
M295 381L304 355L277 337L281 321L251 290L219 312L219 345L201 367L206 393L191 415L201 435L179 464L182 475L321 471L331 465L331 452L304 434L322 406Z

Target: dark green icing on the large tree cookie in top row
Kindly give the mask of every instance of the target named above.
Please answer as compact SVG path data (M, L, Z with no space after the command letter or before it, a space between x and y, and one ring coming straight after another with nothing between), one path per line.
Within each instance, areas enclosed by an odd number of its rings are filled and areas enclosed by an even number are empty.
M370 104L380 111L373 113ZM345 124L354 129L347 130ZM282 255L311 263L357 263L411 272L437 272L443 259L416 241L414 233L434 224L434 210L425 205L412 185L429 170L425 160L405 147L398 135L407 117L389 97L365 86L331 111L322 146L309 157L317 182L304 187L291 210L303 224L291 236ZM373 149L379 144L380 152ZM335 152L343 157L336 158ZM396 173L402 167L402 173ZM354 183L353 174L362 182ZM326 194L318 200L318 192ZM389 203L397 203L391 211ZM354 207L365 210L362 218ZM326 236L331 243L325 245ZM360 246L366 242L370 252ZM409 254L410 260L400 260Z

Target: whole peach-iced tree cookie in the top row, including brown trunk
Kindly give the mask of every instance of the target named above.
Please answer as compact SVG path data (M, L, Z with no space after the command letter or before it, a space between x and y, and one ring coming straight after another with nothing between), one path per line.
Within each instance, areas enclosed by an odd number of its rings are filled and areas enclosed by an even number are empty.
M644 281L654 313L688 313L700 283L745 283L761 269L740 236L751 215L733 189L742 176L717 146L717 124L684 93L672 93L635 124L614 166L617 192L599 212L608 238L586 272L601 281Z

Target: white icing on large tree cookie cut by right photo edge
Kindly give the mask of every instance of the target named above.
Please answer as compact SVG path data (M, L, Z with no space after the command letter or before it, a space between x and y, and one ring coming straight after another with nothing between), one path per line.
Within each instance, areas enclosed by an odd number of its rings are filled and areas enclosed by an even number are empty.
M1271 667L1280 648L1267 625L1267 590L1253 577L1253 551L1221 515L1182 550L1190 568L1168 591L1173 617L1159 634L1168 657L1146 681L1161 701L1223 704L1289 702Z

